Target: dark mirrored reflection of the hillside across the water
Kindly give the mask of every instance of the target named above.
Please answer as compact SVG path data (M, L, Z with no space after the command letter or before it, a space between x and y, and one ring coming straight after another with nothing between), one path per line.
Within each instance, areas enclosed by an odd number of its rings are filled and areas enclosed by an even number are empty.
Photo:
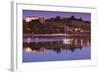
M24 38L23 47L31 53L45 53L49 50L67 53L67 50L74 52L75 49L90 47L90 38Z

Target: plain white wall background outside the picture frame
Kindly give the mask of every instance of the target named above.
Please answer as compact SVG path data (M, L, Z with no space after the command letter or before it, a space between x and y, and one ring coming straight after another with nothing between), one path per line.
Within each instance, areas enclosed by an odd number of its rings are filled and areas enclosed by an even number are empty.
M11 43L11 26L10 26L10 1L11 0L1 0L0 2L0 73L11 73L10 71L10 43ZM25 0L23 0L25 1ZM28 1L28 0L27 0ZM54 5L76 5L76 6L95 6L97 7L97 30L96 42L97 44L97 55L98 55L98 65L97 67L81 67L81 68L67 68L61 70L45 70L37 71L36 73L99 73L100 69L100 58L99 58L99 41L100 41L100 5L99 0L31 0L34 3L41 4L54 4ZM34 72L35 73L35 72Z

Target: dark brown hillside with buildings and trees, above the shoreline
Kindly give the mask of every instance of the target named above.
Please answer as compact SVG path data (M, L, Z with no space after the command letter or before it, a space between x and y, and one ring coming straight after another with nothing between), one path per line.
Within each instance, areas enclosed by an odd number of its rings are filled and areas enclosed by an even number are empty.
M81 17L69 18L56 16L44 19L40 16L28 16L23 20L24 34L88 34L91 33L91 22Z

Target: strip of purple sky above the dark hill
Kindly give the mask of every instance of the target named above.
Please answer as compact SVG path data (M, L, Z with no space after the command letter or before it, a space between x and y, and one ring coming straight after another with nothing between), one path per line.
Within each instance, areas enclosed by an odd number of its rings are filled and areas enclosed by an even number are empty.
M80 13L80 12L58 12L58 11L39 11L39 10L23 10L23 19L25 19L27 16L43 16L45 19L56 17L56 16L62 16L62 17L71 17L72 15L75 16L75 18L82 18L86 21L91 21L91 13Z

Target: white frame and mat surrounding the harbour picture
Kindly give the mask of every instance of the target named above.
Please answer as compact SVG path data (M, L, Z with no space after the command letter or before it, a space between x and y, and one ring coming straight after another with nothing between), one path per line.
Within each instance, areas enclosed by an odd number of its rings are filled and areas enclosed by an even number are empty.
M40 5L32 2L12 2L12 49L11 49L11 70L13 71L29 71L43 69L60 69L66 67L94 66L96 65L96 8L94 7L77 7L77 6L59 6L59 5ZM73 61L57 61L57 62L33 62L22 63L22 10L49 10L63 12L89 12L91 13L91 60L73 60ZM95 25L94 25L95 24ZM95 49L94 49L95 48Z

